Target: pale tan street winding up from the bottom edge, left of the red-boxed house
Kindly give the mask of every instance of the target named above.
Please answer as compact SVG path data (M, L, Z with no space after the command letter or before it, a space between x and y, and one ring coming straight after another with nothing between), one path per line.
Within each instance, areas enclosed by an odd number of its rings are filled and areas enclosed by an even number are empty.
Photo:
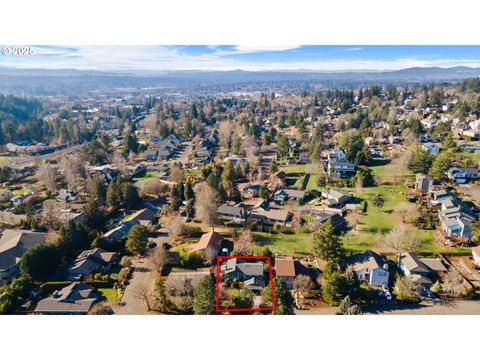
M152 240L157 243L157 246L172 241L173 234L176 233L176 230L180 227L182 222L182 217L176 216L165 228L162 228L159 231L159 235ZM116 305L114 307L115 314L118 315L147 314L145 304L139 298L138 293L142 288L151 289L152 284L156 279L156 271L148 256L135 260L132 267L134 269L133 274L122 297L123 306Z

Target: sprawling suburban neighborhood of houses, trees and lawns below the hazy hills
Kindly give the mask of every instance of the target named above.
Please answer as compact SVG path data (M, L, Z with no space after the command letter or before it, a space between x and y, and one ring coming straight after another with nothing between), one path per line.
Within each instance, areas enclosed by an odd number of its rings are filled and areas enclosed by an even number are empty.
M259 84L0 95L0 313L480 311L478 77Z

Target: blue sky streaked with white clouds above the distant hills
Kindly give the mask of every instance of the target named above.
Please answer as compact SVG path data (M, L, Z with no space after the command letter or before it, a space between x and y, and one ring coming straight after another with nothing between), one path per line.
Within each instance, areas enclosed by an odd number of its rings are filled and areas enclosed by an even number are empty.
M33 50L31 56L0 55L0 66L105 71L480 67L480 46L33 46Z

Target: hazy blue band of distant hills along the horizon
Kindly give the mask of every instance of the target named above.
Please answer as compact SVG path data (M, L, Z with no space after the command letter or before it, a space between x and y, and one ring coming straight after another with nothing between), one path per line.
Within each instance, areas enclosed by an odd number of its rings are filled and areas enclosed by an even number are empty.
M415 67L396 71L92 71L0 67L0 93L78 94L113 88L158 87L177 91L233 91L308 86L353 88L369 84L456 83L480 76L480 68Z

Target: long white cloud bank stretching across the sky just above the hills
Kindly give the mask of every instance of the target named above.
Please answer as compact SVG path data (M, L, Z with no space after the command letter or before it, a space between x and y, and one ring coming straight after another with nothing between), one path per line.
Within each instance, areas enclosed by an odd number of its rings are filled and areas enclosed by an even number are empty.
M215 47L212 47L217 49ZM292 49L294 47L288 47ZM243 60L231 54L285 51L286 47L237 46L233 50L218 49L213 53L191 54L175 46L79 46L34 47L35 55L9 57L0 55L0 65L15 68L72 68L106 71L129 70L399 70L409 67L480 67L478 59L399 58L325 59L309 61ZM275 56L274 58L279 58Z

